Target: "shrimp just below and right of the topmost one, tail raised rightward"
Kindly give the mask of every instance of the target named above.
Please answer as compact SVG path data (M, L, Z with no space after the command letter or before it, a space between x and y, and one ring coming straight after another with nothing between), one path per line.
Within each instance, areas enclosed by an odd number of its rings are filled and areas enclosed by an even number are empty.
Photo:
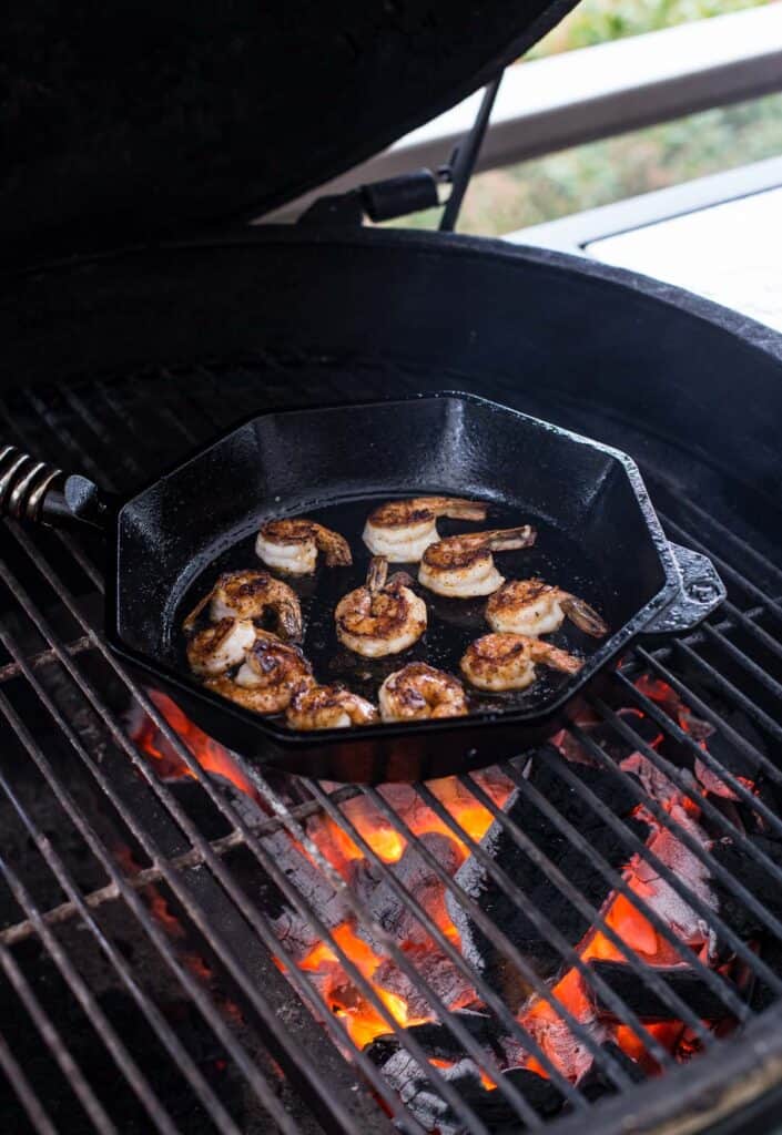
M531 524L448 536L424 552L418 582L430 591L455 599L491 595L505 582L494 566L492 552L527 548L535 543L535 536Z

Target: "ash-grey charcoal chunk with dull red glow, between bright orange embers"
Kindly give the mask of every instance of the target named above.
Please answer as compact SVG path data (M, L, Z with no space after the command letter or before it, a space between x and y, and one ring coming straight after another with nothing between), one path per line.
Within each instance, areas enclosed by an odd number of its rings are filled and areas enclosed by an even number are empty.
M448 835L440 832L425 832L418 836L418 842L436 858L440 866L449 875L456 872L461 861L461 854L455 841ZM402 857L398 863L391 864L390 869L438 925L447 924L444 884L418 855L414 846L407 847ZM391 884L371 863L366 859L357 859L351 882L355 892L367 906L373 919L389 934L392 934L398 942L431 944L429 933L407 902L397 894ZM359 926L358 933L377 952L382 952L380 943L373 941L369 927Z

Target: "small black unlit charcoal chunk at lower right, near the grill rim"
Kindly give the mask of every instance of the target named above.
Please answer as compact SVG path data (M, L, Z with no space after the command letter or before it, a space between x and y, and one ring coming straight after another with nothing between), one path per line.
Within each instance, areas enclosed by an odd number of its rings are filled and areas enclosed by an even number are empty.
M679 1011L649 989L646 982L624 962L591 961L590 969L601 977L641 1020L680 1019ZM701 1020L719 1020L726 1016L724 1002L712 992L696 969L690 966L656 966L654 972ZM591 994L599 1015L613 1017L614 1010L604 1001L601 992L591 990Z

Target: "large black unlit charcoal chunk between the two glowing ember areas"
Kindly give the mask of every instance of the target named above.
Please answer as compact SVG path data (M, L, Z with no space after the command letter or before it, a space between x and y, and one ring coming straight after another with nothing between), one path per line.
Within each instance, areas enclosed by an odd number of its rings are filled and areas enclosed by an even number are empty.
M547 762L550 748L539 750L532 764L530 783L549 800L558 812L584 836L589 846L619 869L631 858L624 841L591 809L586 801L564 780L556 775ZM559 758L560 759L560 758ZM614 776L586 765L572 765L573 772L617 815L625 816L635 805L627 785ZM508 815L527 836L544 851L593 907L600 908L610 888L594 867L592 857L582 855L559 830L542 815L521 792L508 801ZM648 827L639 819L625 819L625 826L644 840ZM590 923L560 893L558 888L518 848L513 836L499 823L492 824L482 840L508 877L530 897L572 945L589 930ZM473 856L456 875L457 882L479 903L494 925L501 927L522 956L542 978L554 977L561 968L561 958L541 935L524 907L510 899ZM529 984L505 956L484 935L477 923L464 910L454 896L448 896L448 911L461 936L465 957L483 974L489 984L516 1010L530 992Z

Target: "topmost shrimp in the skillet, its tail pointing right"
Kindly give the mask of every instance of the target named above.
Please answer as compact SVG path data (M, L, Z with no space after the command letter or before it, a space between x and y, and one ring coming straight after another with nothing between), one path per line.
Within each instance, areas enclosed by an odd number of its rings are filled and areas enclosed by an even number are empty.
M417 563L430 544L435 544L438 516L451 520L485 520L486 506L460 497L413 497L388 501L369 513L364 543L376 556L391 563Z

